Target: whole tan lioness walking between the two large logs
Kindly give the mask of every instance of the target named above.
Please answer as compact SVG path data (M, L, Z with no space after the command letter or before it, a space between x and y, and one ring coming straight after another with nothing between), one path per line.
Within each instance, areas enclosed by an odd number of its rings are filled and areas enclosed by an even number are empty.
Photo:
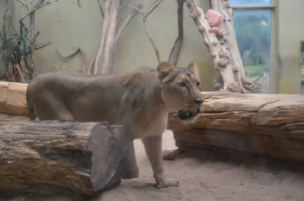
M165 179L162 134L168 112L177 111L182 120L202 112L199 70L195 62L174 68L162 62L157 69L141 67L124 74L80 75L50 72L34 77L26 91L30 120L34 110L40 120L108 122L122 125L140 138L154 172L157 188L178 186ZM133 141L127 147L123 179L138 177Z

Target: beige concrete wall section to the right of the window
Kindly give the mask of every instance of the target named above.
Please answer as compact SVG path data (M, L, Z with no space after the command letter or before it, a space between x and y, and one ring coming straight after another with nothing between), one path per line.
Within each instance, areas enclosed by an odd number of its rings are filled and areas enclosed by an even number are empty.
M291 4L292 2L292 4ZM303 0L278 0L277 93L300 91L300 45L304 41Z

